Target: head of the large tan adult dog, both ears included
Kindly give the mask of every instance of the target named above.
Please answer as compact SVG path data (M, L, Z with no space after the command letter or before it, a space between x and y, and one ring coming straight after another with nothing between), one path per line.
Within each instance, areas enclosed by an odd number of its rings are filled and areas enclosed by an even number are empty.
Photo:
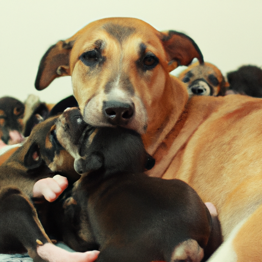
M170 93L187 100L183 83L171 80L169 72L194 57L203 62L198 46L182 33L159 32L135 18L106 18L52 46L40 62L35 86L42 90L56 77L71 75L84 121L142 134L166 117L164 108L170 112Z

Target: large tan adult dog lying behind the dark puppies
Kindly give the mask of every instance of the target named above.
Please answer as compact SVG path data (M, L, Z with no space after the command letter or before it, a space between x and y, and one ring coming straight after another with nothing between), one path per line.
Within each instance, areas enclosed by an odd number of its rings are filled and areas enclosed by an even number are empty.
M262 261L262 101L188 100L185 84L169 72L194 57L203 63L184 34L133 18L102 19L48 50L36 88L71 75L86 122L143 133L156 159L150 176L182 179L217 207L225 243L214 259Z

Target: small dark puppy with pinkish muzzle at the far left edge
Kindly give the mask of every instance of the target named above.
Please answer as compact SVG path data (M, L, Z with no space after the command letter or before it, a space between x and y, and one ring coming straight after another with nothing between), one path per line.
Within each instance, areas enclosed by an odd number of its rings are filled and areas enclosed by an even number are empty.
M24 140L22 133L25 105L13 97L0 98L0 139L5 144ZM1 145L0 145L1 146Z

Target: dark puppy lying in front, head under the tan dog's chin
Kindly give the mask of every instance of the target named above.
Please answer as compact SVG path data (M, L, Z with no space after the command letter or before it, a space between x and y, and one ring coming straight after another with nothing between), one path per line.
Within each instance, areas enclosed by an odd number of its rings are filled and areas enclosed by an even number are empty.
M134 130L95 128L77 108L69 108L58 119L55 135L82 174L64 205L75 212L70 223L77 239L69 239L71 245L84 246L81 239L97 245L99 262L199 262L205 248L207 258L221 243L220 232L210 237L215 217L191 187L143 173L154 163ZM219 243L210 250L214 239Z

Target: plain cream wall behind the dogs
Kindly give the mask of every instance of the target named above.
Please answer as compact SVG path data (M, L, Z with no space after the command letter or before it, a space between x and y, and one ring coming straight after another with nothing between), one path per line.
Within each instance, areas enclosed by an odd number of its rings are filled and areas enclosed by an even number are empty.
M0 0L0 97L25 101L35 94L55 103L71 95L70 77L35 90L41 57L91 21L113 16L186 33L223 74L244 64L262 65L261 0Z

